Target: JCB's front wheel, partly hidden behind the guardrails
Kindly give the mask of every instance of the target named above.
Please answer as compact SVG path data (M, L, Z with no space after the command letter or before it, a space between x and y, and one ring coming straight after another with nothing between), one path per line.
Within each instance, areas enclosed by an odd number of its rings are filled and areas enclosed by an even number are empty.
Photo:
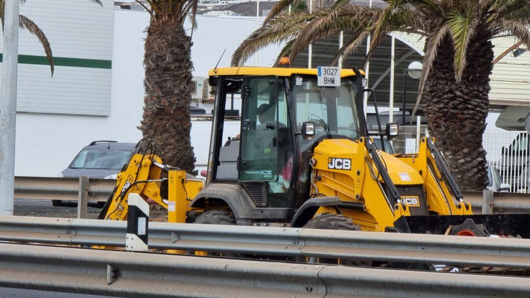
M337 214L325 214L312 218L304 225L304 229L320 230L342 230L342 231L360 231L360 226L354 224L349 217ZM372 267L372 261L350 260L350 259L330 259L319 258L319 263L323 264L340 264L346 266L363 266Z

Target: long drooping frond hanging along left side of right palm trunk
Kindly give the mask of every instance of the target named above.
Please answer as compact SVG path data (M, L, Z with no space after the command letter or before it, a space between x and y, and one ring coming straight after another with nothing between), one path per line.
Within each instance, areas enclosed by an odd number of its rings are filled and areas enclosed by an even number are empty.
M447 33L449 30L449 25L447 23L442 24L438 29L432 33L427 39L427 49L425 51L425 56L423 56L423 67L421 68L420 84L418 87L418 97L416 99L416 104L414 104L414 110L412 110L412 116L416 115L418 107L420 106L421 95L423 95L423 90L425 89L425 84L427 82L427 77L429 76L430 70L432 68L432 63L436 59L438 54L438 47L440 43L447 38ZM411 118L412 119L412 118Z

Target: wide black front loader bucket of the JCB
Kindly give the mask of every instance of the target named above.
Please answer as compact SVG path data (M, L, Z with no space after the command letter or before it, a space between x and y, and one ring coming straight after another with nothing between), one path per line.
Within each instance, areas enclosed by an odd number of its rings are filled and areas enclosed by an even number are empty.
M476 214L476 215L421 215L401 216L388 232L416 234L446 234L449 227L469 225L480 227L490 235L520 236L530 239L530 214ZM466 223L465 223L466 222ZM450 231L450 230L449 230ZM454 234L454 233L453 233Z

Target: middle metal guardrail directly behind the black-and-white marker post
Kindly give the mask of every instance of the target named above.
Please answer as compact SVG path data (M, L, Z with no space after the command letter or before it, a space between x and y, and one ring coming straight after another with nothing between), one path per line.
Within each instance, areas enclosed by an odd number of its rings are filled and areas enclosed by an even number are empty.
M0 216L0 241L125 247L123 221ZM149 248L530 269L530 240L149 223Z

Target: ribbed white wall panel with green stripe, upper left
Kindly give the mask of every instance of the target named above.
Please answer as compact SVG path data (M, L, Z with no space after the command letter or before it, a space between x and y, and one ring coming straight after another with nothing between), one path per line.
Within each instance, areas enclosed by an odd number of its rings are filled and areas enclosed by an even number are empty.
M52 77L37 37L21 31L18 111L109 115L114 3L102 3L28 0L21 5L20 14L45 32L55 72Z

